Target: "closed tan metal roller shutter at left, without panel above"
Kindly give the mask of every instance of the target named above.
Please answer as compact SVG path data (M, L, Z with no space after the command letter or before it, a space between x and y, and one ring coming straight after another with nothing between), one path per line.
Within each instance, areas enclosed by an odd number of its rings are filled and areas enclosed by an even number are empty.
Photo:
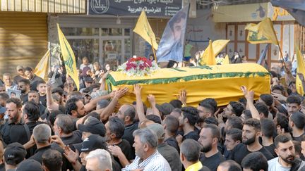
M0 73L16 74L16 66L35 68L47 52L47 14L0 13Z

